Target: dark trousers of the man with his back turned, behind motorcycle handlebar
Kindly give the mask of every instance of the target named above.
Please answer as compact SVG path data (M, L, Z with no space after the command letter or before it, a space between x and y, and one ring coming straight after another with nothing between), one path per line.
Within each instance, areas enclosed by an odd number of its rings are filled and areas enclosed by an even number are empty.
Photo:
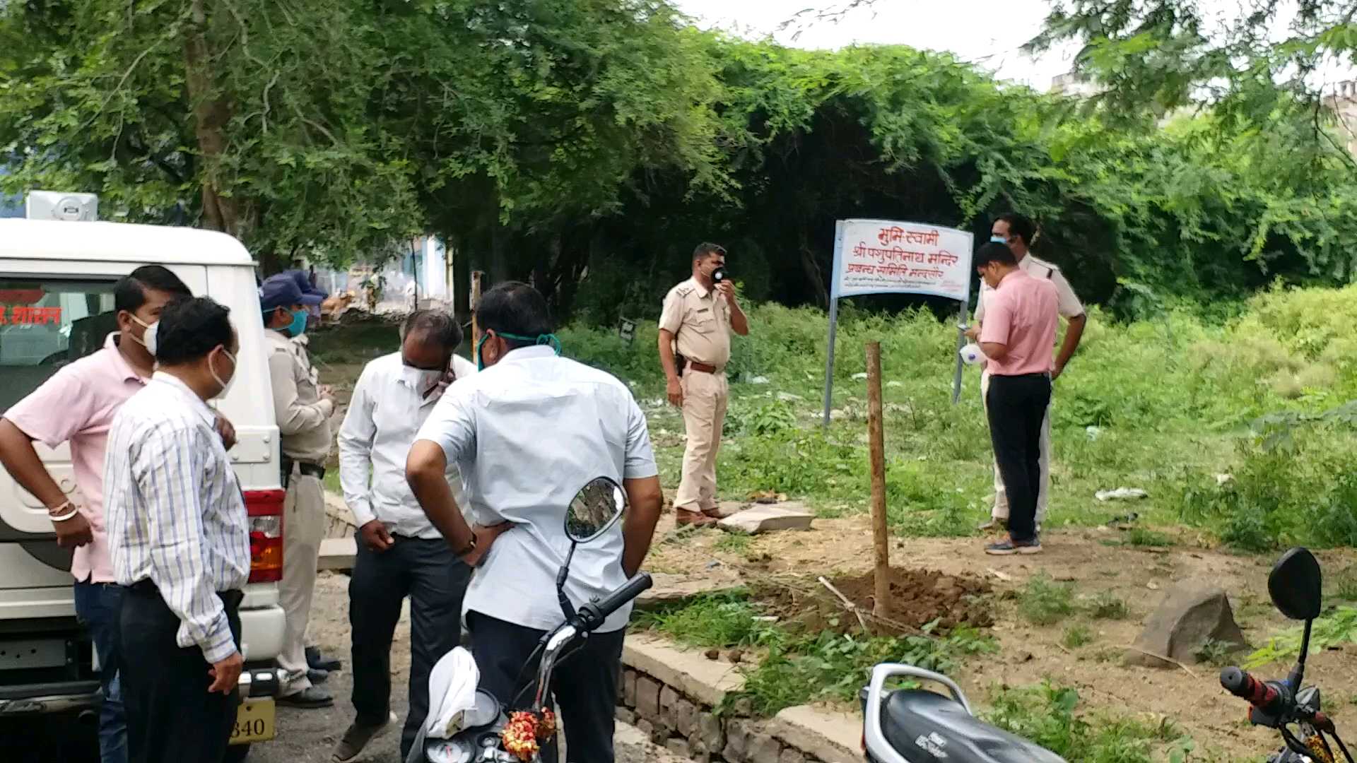
M510 710L532 705L537 687L537 664L524 669L524 663L546 631L516 626L480 612L467 612L471 652L480 669L480 688L489 691ZM577 649L556 661L551 692L566 732L566 752L578 763L612 763L613 714L617 710L617 675L622 672L622 641L626 629L596 633ZM522 673L531 688L514 695L524 684L514 686ZM555 745L543 749L546 763L556 762Z

